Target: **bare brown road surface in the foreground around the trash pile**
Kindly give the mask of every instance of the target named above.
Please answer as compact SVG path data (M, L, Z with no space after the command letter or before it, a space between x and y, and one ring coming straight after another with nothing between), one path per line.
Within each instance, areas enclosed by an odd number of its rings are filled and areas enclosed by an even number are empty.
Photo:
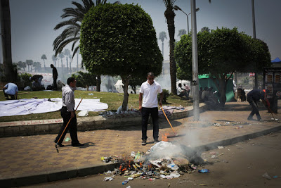
M173 180L135 179L126 185L122 176L114 177L112 182L103 182L105 175L91 175L72 180L37 184L30 187L281 187L281 132L275 132L256 139L239 142L224 149L214 149L202 153L203 158L212 165L205 165L210 173L185 174ZM211 158L212 155L216 158ZM219 156L219 154L221 154ZM268 173L268 180L262 175Z

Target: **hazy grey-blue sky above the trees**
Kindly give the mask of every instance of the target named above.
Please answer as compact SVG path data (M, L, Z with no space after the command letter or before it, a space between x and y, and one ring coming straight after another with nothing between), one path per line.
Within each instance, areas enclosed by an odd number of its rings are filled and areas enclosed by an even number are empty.
M53 40L60 35L62 30L54 31L53 28L62 19L60 15L63 8L72 7L71 1L79 0L10 0L11 30L12 30L12 57L13 62L32 59L44 62L41 56L46 54L46 67L52 62ZM108 0L115 2L116 0ZM168 29L164 17L165 6L162 0L119 0L122 4L139 4L150 14L157 33L166 32ZM81 2L81 1L79 1ZM176 5L185 13L190 13L190 0L177 0ZM237 27L240 32L253 35L251 0L197 0L197 32L202 27L216 29L216 27ZM271 58L281 57L280 37L280 0L255 0L256 38L268 44ZM178 30L187 30L187 18L181 11L175 11L175 39L178 41ZM189 16L191 30L191 16ZM1 39L0 39L1 40ZM1 43L0 43L1 44ZM158 40L160 50L162 42ZM1 51L0 45L0 51ZM67 46L71 49L71 46ZM164 60L169 59L169 37L164 42ZM2 54L0 54L2 62ZM79 56L81 60L81 56ZM74 56L76 62L76 56ZM73 63L74 67L76 63Z

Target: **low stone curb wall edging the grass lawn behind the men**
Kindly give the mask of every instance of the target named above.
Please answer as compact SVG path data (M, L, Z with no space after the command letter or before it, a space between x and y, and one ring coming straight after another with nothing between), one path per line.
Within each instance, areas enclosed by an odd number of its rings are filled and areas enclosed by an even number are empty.
M200 113L207 111L205 104L200 104ZM187 118L193 115L193 106L183 111L174 112L169 120ZM160 119L161 120L161 119ZM30 120L0 123L0 137L18 137L38 134L56 134L63 124L63 119ZM105 130L117 127L141 125L141 115L138 113L119 114L115 116L95 116L77 118L78 131Z

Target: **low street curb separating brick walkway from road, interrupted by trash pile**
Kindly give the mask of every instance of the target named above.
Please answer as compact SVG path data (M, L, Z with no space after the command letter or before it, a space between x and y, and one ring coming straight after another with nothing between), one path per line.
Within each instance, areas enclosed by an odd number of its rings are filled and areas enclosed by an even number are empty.
M217 146L227 146L230 144L235 144L237 142L242 142L248 139L260 137L270 132L277 132L281 130L281 125L277 127L272 127L267 130L262 130L259 132L253 132L250 134L244 134L240 137L234 137L230 139L224 139L218 142L212 142L209 144L204 144L201 146L194 147L197 151L208 151L210 149L215 149ZM67 180L69 178L81 177L86 175L94 175L98 173L104 173L107 170L114 170L117 168L119 163L110 163L103 165L89 165L79 168L67 168L65 170L53 170L49 172L42 172L37 174L29 174L29 175L18 175L10 178L0 178L1 187L19 187L30 184L39 184L45 182L52 182L58 180Z

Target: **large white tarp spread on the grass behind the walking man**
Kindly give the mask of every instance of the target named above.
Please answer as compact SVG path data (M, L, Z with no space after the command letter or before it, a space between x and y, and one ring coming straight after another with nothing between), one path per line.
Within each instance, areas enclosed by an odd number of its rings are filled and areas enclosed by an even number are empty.
M75 99L75 108L81 99ZM62 107L61 98L48 99L19 99L0 101L0 117L11 115L27 115L30 113L46 113L58 111ZM100 99L83 99L77 111L105 111L107 104L100 103Z

